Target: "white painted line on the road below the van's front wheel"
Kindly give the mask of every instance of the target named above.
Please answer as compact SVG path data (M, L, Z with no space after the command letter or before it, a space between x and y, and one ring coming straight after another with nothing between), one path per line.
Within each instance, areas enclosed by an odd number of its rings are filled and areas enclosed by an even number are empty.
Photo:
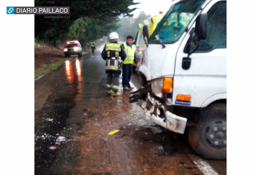
M198 167L198 169L205 175L218 175L218 173L209 165L209 163L205 162L202 158L197 157L195 155L189 154L190 159L194 164Z

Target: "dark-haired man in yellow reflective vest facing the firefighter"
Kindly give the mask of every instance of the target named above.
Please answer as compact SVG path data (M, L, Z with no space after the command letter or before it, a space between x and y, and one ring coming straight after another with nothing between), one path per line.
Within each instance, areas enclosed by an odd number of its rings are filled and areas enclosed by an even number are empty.
M136 63L137 66L139 66L136 57L136 46L133 44L133 37L127 36L127 40L125 43L122 44L124 47L124 51L126 53L126 58L122 62L123 63L123 90L131 90L133 87L130 86L130 81L132 78L132 71L133 71L133 62Z

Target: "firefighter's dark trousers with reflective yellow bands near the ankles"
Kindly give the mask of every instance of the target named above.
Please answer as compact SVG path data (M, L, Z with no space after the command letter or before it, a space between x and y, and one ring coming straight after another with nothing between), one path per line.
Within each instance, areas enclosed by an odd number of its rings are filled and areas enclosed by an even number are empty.
M119 76L120 72L111 70L107 71L107 90L113 89L114 92L118 92Z

